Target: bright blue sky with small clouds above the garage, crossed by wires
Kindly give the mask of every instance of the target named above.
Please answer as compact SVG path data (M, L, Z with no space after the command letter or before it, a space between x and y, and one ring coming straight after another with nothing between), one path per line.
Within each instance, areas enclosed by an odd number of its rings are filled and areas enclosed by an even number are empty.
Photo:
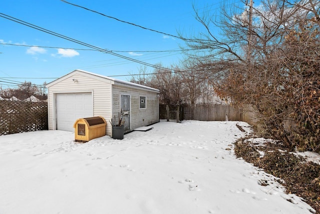
M171 35L204 31L195 21L192 4L202 12L217 13L224 1L80 1L68 0L126 22ZM239 2L239 1L235 1ZM178 64L183 58L177 38L143 30L63 3L60 0L2 1L0 13L39 26L63 36L110 50L150 64ZM0 86L4 82L51 82L75 69L105 76L136 74L140 64L89 49L0 17ZM25 46L16 46L25 45ZM55 47L55 48L41 48ZM117 52L121 51L121 52ZM169 52L143 52L169 51ZM148 68L152 71L153 68ZM128 76L114 77L129 80ZM4 81L4 82L3 82ZM13 87L13 86L10 86Z

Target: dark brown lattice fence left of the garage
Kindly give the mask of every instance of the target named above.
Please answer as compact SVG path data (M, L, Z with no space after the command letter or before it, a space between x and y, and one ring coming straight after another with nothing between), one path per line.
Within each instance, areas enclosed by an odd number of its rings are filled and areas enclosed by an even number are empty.
M0 100L0 135L47 129L46 102Z

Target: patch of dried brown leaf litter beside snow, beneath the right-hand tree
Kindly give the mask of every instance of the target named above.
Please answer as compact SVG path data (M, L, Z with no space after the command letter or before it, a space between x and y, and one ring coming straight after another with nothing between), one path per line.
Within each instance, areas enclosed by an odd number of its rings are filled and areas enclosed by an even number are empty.
M235 154L265 172L281 178L287 193L304 198L317 213L320 213L320 165L306 162L305 158L283 151L281 143L255 146L245 141L235 143ZM264 152L260 157L257 149ZM279 180L279 182L281 182Z

